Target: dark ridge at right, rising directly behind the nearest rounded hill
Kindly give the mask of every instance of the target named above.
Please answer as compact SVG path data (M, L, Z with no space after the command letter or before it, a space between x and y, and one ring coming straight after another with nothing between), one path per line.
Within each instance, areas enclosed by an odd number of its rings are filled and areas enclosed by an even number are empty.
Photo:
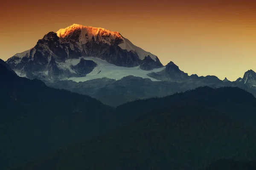
M200 87L166 96L128 102L116 108L122 115L143 115L150 112L169 111L173 106L197 106L214 108L241 123L254 126L256 122L256 98L240 88Z

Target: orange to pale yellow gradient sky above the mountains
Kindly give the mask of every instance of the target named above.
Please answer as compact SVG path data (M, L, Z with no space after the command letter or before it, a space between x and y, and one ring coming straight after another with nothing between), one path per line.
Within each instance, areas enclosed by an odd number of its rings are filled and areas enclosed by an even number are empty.
M119 31L189 75L236 80L256 71L255 0L8 0L0 23L3 60L77 23Z

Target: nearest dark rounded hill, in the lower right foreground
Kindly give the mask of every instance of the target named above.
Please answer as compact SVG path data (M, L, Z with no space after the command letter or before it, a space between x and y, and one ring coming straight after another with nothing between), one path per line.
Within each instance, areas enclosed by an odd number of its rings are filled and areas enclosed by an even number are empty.
M256 131L216 110L174 107L19 170L199 170L216 159L256 159Z

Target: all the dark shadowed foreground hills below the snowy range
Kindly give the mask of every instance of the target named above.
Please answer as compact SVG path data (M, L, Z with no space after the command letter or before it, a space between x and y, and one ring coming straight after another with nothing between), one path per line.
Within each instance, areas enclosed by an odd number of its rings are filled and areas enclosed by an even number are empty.
M3 170L255 168L256 98L240 88L111 108L18 77L2 60L0 79Z

